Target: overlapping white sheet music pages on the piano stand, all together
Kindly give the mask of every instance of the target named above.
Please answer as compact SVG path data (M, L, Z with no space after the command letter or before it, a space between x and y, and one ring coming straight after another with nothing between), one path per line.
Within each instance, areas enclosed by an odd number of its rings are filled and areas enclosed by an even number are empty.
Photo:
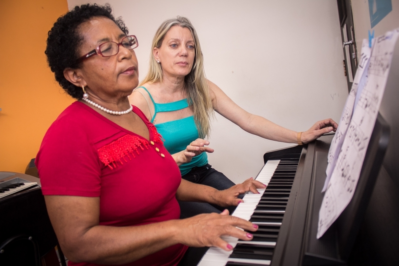
M323 188L325 195L319 211L318 239L337 220L355 193L398 36L399 29L387 32L377 38L371 51L365 45L367 40L363 41L356 80L330 146L327 179ZM370 60L367 60L368 52ZM361 74L358 76L358 73Z

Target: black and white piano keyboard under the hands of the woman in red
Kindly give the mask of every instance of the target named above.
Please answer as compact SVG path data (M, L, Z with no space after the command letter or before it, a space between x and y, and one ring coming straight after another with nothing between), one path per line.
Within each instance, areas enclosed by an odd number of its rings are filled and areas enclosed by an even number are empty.
M256 177L267 188L258 189L259 194L247 193L232 214L259 226L258 231L251 232L254 238L241 241L222 237L234 249L226 252L211 247L198 266L270 265L298 162L297 158L267 161Z

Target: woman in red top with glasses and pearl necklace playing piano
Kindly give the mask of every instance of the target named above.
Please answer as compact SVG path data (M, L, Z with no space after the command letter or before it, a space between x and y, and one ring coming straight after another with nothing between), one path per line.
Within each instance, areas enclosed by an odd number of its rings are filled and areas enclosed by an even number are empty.
M127 98L138 84L137 45L107 5L76 6L48 33L48 64L77 101L48 129L36 165L69 265L174 266L187 246L231 250L220 236L251 240L236 227L258 228L227 211L178 219L176 199L237 205L238 194L265 186L247 180L218 191L181 180L156 128Z

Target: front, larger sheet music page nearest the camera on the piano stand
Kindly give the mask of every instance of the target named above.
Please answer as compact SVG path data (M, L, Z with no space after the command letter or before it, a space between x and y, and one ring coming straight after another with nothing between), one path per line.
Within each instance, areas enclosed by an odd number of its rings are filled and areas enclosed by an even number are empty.
M367 68L368 73L360 81L365 85L361 93L359 90L357 91L360 93L357 106L349 122L346 135L341 137L343 139L342 146L339 149L340 152L320 208L318 239L337 220L355 192L384 95L398 36L399 28L377 37L373 44Z

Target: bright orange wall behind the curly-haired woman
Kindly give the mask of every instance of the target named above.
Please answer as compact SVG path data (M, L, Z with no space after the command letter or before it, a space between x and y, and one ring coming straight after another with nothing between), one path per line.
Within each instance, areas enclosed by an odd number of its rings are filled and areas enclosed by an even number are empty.
M0 0L0 171L24 173L51 123L73 99L44 50L66 0Z

